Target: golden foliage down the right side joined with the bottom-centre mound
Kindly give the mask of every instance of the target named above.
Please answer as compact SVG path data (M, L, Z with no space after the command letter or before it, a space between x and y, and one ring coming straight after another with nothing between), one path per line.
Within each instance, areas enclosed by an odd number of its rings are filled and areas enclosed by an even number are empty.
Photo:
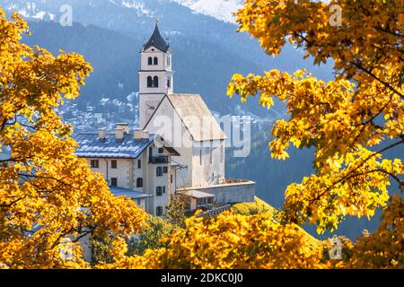
M316 64L332 60L333 81L326 83L304 70L271 70L235 74L228 88L229 96L239 94L242 101L259 95L268 109L274 98L284 101L290 117L274 125L271 155L285 160L291 144L312 147L316 173L286 188L284 208L276 217L269 210L191 218L186 230L167 239L167 248L126 257L110 267L403 268L404 168L400 159L383 154L404 143L404 4L338 1L338 27L329 23L333 4L246 0L237 13L240 30L259 39L268 54L276 56L289 41ZM347 215L370 218L378 209L382 223L373 234L364 232L356 244L337 238L337 259L329 254L334 238L313 244L299 227L309 222L320 233L332 231Z

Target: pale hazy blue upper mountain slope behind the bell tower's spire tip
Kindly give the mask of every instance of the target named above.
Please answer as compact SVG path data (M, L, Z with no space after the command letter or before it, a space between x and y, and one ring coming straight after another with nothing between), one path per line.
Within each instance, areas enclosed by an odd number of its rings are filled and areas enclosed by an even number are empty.
M184 5L177 3L179 1ZM199 8L215 10L216 5L225 6L232 3L225 0L217 2L216 0L15 0L12 3L8 0L0 0L0 5L8 12L16 10L22 12L26 18L53 19L56 22L63 14L60 8L69 4L73 9L74 22L119 31L129 37L142 40L150 37L154 27L154 17L158 15L160 30L164 37L170 38L171 42L181 36L189 41L214 45L235 57L258 65L260 71L282 68L293 72L297 68L306 67L313 74L318 74L326 80L329 78L329 66L313 66L311 59L303 61L303 55L294 48L287 46L279 57L268 57L259 48L259 42L256 39L250 39L245 33L237 33L236 25L219 21L202 13L195 13L185 6L187 4L193 7L198 4ZM230 10L233 8L229 8ZM229 13L227 8L224 11L224 14Z

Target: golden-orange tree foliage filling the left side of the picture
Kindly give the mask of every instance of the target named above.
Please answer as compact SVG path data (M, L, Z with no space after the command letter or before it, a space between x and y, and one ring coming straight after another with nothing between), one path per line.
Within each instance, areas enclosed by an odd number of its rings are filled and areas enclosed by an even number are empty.
M74 155L71 126L57 116L92 67L74 53L22 44L27 30L0 10L0 267L86 267L79 239L108 230L119 241L140 230L145 213Z

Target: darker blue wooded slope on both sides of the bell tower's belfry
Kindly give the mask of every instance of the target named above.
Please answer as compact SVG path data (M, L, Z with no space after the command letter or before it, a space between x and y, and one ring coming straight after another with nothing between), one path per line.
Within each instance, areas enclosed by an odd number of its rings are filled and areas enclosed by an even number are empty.
M85 27L79 23L73 27L61 27L54 22L29 24L32 35L23 39L27 44L40 45L54 54L59 49L75 51L92 64L94 72L83 87L79 102L92 104L102 97L125 100L128 94L138 91L139 50L143 45L140 37L127 37L112 30L93 25ZM209 108L222 113L230 113L237 103L225 96L226 85L232 75L259 72L258 65L214 45L177 36L171 46L176 71L174 91L200 93ZM268 115L267 109L260 108L254 101L247 107Z

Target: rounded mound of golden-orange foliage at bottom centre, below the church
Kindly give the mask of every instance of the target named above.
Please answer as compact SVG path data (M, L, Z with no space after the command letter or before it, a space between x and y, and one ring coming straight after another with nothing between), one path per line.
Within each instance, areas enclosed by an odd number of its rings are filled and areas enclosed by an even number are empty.
M321 268L321 246L295 224L280 224L272 214L222 213L192 217L174 232L167 248L146 250L111 268Z

